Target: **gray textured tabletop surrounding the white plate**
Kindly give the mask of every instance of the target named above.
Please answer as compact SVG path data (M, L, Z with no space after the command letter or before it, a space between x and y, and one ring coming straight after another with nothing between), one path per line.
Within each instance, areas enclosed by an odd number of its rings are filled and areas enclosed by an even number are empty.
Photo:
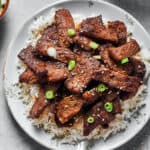
M0 20L0 150L47 150L30 139L12 118L3 96L2 70L7 47L23 22L41 7L54 0L10 0L6 16ZM149 0L107 0L127 10L150 33ZM13 63L13 58L12 58ZM118 141L119 142L119 141ZM150 121L133 140L118 150L149 150Z

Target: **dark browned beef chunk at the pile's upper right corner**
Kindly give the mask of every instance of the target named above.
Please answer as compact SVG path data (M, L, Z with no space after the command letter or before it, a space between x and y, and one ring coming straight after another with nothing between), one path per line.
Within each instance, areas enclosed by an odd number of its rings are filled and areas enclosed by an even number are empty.
M127 28L122 21L108 21L107 28L117 33L118 44L125 44L127 41Z

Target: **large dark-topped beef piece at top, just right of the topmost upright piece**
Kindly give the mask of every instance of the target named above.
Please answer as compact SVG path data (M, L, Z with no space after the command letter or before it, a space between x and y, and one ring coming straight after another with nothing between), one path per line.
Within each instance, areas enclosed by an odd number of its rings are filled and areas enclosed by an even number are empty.
M105 28L102 23L101 16L87 18L82 21L80 34L95 38L98 40L105 40L110 42L118 42L117 33Z

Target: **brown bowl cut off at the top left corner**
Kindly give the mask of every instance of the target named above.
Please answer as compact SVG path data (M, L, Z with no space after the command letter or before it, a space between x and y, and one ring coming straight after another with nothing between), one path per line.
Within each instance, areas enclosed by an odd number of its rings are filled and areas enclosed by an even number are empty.
M0 19L5 14L8 8L9 0L0 0Z

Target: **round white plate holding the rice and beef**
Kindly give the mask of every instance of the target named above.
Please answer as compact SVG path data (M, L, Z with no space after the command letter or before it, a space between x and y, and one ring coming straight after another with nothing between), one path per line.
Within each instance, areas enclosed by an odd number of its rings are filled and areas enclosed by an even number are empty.
M146 52L146 49L150 49L150 37L142 25L129 13L120 9L119 7L112 5L107 2L103 1L85 1L85 0L61 0L56 3L52 3L51 5L47 6L46 8L38 11L35 15L33 15L25 24L21 27L19 33L14 36L13 41L10 44L6 65L5 65L5 73L4 73L4 87L6 91L6 99L8 102L8 106L12 115L14 116L15 120L18 122L20 127L35 141L40 143L41 145L47 148L53 148L57 150L76 150L82 149L83 147L80 145L60 145L59 142L51 140L49 135L45 132L36 129L34 126L31 125L31 122L26 118L24 115L25 113L25 106L22 104L20 100L17 99L15 96L17 93L15 91L12 97L8 96L7 91L9 90L10 86L18 81L18 74L16 71L16 66L18 63L17 54L22 47L25 46L25 42L28 38L28 30L29 26L33 23L35 17L39 17L41 15L47 14L51 8L60 8L64 7L71 11L73 15L83 15L85 17L89 16L96 16L96 15L103 15L104 20L122 20L126 23L128 29L133 32L133 36L136 40L142 45L142 51ZM150 91L148 87L148 91ZM10 92L10 91L9 91ZM110 137L105 142L103 140L98 140L95 142L94 146L91 148L93 150L98 150L101 148L102 150L114 149L122 144L129 141L133 138L147 123L150 117L150 92L146 97L146 107L144 107L141 112L144 113L144 116L139 116L137 123L134 119L128 126L128 128L121 133L118 133L112 137ZM82 143L84 145L84 143Z

